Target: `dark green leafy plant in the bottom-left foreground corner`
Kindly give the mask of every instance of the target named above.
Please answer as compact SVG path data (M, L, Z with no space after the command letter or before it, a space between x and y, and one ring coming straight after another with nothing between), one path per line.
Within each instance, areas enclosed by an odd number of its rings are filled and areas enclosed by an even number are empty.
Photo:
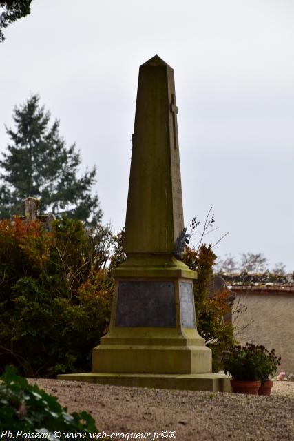
M25 378L17 376L11 367L0 381L0 429L32 433L91 433L97 432L95 421L87 412L67 413L57 398L48 395ZM51 437L52 439L53 436ZM62 436L60 438L63 439Z

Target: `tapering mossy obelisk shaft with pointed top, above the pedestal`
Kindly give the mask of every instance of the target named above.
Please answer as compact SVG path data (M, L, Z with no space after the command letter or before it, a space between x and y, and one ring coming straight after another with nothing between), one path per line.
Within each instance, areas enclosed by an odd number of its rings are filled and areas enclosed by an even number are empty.
M157 55L140 66L124 249L171 253L184 227L174 70Z

